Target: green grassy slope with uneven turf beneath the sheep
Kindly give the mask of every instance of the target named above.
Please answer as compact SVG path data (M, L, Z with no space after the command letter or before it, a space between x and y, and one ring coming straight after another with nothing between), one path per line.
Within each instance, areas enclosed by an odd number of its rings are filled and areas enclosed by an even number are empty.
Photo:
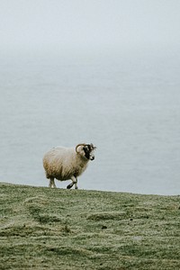
M180 269L180 196L0 190L0 269Z

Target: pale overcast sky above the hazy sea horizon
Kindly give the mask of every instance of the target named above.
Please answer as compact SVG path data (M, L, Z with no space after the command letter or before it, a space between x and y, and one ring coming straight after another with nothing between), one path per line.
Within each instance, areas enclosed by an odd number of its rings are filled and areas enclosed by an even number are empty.
M1 53L179 45L179 0L0 0Z

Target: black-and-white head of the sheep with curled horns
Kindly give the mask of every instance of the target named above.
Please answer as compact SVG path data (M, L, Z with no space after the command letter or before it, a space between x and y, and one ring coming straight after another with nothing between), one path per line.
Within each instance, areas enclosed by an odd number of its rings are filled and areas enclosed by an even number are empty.
M76 146L76 153L80 154L81 156L85 157L86 159L94 160L95 148L96 147L93 145L93 143L91 143L91 144L79 143Z

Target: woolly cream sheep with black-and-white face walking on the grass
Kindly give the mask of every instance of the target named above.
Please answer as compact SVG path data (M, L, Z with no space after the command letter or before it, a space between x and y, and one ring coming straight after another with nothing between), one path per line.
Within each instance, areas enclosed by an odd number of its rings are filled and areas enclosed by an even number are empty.
M54 178L59 181L71 179L67 185L70 189L75 184L77 189L77 176L82 175L89 160L94 160L94 145L79 143L76 148L56 147L50 149L43 157L43 166L46 177L49 179L49 187L56 187Z

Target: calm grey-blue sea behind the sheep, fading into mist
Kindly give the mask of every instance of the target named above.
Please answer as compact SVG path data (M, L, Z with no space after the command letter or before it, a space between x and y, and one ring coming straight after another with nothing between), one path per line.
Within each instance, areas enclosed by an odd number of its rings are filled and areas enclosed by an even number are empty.
M48 186L45 151L93 142L79 188L180 194L179 74L176 56L3 58L0 181Z

